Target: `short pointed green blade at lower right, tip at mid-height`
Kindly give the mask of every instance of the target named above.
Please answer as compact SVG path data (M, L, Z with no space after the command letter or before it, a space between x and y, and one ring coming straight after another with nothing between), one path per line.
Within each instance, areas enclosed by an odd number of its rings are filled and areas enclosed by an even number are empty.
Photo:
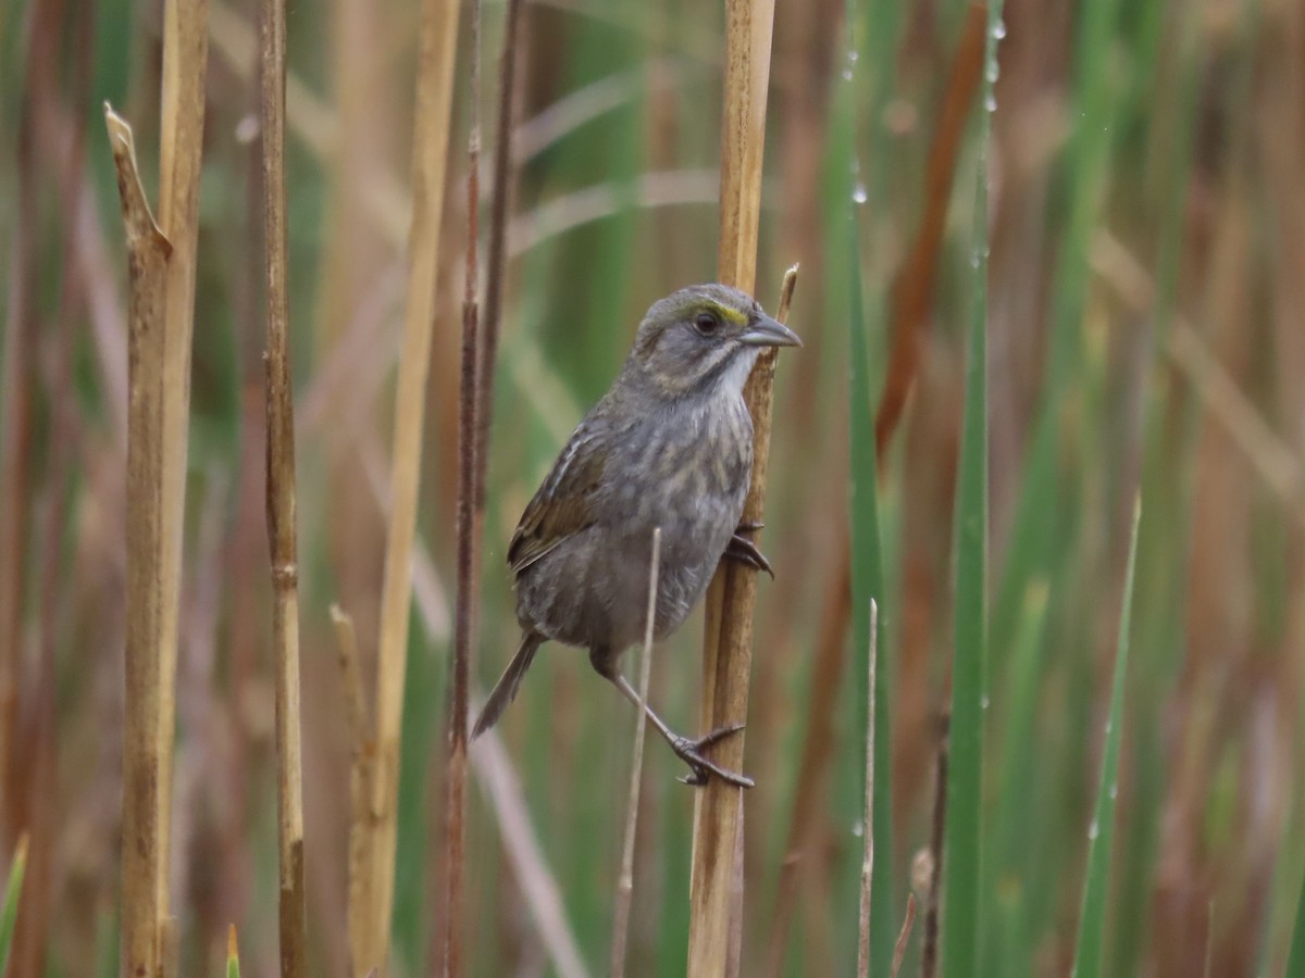
M1141 518L1142 501L1138 499L1133 507L1133 531L1129 536L1129 569L1124 576L1124 608L1120 612L1120 642L1111 683L1111 716L1105 724L1101 781L1096 790L1092 824L1087 832L1087 876L1083 882L1078 948L1074 952L1074 978L1096 978L1101 973L1104 956L1105 901L1109 895L1111 842L1114 836L1114 802L1120 780L1120 729L1124 726L1124 682L1129 665L1129 622L1133 617L1133 571L1137 567Z

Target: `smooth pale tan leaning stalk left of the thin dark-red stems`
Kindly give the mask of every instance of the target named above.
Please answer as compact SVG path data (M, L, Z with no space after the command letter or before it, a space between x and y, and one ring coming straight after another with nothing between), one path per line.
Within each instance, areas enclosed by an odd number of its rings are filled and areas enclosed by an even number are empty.
M453 104L457 0L424 0L419 29L416 106L412 136L412 226L408 235L408 291L394 404L393 492L381 591L377 648L376 743L372 819L354 824L367 852L368 880L350 884L351 915L365 915L356 932L355 969L382 973L389 953L394 904L394 857L398 832L399 737L403 722L403 678L407 669L408 605L412 593L412 537L422 475L422 429L425 385L435 325L440 222ZM351 842L351 848L354 848ZM365 895L365 902L352 897Z

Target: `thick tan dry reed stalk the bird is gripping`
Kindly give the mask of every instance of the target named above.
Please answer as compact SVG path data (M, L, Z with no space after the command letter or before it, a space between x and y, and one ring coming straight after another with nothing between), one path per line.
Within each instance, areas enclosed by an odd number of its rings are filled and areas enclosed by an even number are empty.
M716 276L745 292L754 291L757 271L761 163L774 22L774 0L726 0ZM791 288L788 283L786 278L786 291ZM745 520L761 520L766 497L774 374L775 352L767 351L758 357L744 391L754 425L752 488L744 505ZM746 719L756 596L756 575L728 561L722 563L707 589L699 707L699 722L705 730L741 724ZM741 734L727 738L716 748L716 763L740 769L743 747ZM724 974L731 957L731 891L736 879L733 861L740 852L737 835L741 816L741 790L720 780L709 782L697 797L689 887L689 975Z

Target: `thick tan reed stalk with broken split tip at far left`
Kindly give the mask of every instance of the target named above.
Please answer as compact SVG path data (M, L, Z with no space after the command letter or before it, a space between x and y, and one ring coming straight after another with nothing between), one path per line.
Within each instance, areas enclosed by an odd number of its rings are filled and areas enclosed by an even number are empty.
M159 223L141 185L132 129L104 106L130 274L123 956L128 973L151 977L166 969L174 927L172 726L206 53L202 0L166 4Z

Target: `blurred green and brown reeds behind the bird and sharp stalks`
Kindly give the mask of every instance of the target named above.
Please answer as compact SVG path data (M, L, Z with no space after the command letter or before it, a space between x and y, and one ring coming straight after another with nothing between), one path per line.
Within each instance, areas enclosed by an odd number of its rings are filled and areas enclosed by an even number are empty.
M876 858L893 902L877 927L895 934L920 882L984 256L990 587L970 973L1070 969L1141 486L1103 973L1283 974L1305 874L1305 5L1007 0L990 95L976 87L987 29L966 3L853 10L852 25L843 0L775 10L757 295L773 308L783 270L801 262L790 322L805 347L786 352L776 379L763 544L778 579L761 580L757 610L743 974L855 962L864 649L852 655L847 569L869 554L863 537L851 546L850 403L863 455L874 422L881 439L891 764L880 773L893 837ZM502 14L485 4L487 136ZM277 961L254 17L248 0L210 0L174 803L188 975L219 973L231 922L247 974ZM21 831L33 845L14 975L117 970L127 275L100 106L133 123L155 186L159 23L155 3L0 8L0 709L14 732L0 867ZM371 683L416 5L292 4L288 31L308 926L312 973L343 975L350 745L328 606L355 617ZM427 973L438 913L466 9L462 34L405 712L398 975ZM483 685L517 639L502 554L522 507L647 305L714 276L723 53L714 3L526 4ZM985 100L987 244L974 235ZM848 396L853 336L869 403ZM699 642L696 617L654 660L652 702L677 729L696 725ZM505 814L518 841L519 825L534 840L529 872L556 885L586 965L606 966L633 724L582 655L540 656L500 728L519 794L471 797L474 974L552 973ZM646 762L629 973L673 975L693 793L660 745ZM923 935L921 910L907 971Z

